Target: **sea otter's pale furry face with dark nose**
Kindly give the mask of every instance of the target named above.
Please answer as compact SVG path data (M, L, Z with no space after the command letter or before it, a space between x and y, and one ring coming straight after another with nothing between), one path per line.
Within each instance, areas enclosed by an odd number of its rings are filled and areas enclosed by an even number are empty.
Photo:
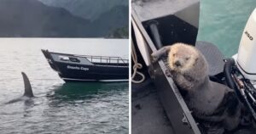
M186 70L190 70L195 64L197 58L195 53L191 52L191 49L186 50L186 47L174 47L168 56L169 66L172 70L176 70L183 73Z

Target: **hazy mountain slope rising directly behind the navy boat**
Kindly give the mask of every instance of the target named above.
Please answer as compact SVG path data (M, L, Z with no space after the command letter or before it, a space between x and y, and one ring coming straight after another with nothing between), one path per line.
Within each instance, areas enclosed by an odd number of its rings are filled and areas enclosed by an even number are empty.
M91 28L96 36L109 36L128 25L128 0L39 0L47 5L62 7L72 14L93 21ZM118 32L119 34L125 32ZM118 34L111 34L118 35ZM125 35L120 35L125 36Z

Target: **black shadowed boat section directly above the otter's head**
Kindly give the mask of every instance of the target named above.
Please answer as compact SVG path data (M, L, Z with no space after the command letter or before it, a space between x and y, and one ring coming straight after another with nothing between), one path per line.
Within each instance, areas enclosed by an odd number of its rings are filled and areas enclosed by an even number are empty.
M154 37L152 30L150 29L150 25L157 25L157 29L160 33L160 42L163 46L170 45L175 42L184 42L187 44L195 45L197 28L177 18L175 15L169 15L166 17L143 22L143 26L148 32L148 36L150 36L154 42Z

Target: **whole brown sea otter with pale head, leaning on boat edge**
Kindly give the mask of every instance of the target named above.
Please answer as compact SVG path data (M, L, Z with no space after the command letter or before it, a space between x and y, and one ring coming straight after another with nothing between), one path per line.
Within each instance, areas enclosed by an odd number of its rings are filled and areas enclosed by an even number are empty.
M204 122L205 130L223 133L239 125L241 104L236 93L223 84L210 81L207 60L199 50L175 43L152 53L154 61L163 55L168 56L166 75L186 92L183 98L195 119Z

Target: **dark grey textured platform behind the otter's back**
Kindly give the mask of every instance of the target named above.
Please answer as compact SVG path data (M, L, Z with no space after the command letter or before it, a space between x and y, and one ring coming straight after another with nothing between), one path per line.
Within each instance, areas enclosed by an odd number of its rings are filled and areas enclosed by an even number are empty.
M201 53L207 59L209 65L209 75L218 75L224 70L224 54L218 50L218 47L210 42L198 41L195 43L195 47L201 51Z

